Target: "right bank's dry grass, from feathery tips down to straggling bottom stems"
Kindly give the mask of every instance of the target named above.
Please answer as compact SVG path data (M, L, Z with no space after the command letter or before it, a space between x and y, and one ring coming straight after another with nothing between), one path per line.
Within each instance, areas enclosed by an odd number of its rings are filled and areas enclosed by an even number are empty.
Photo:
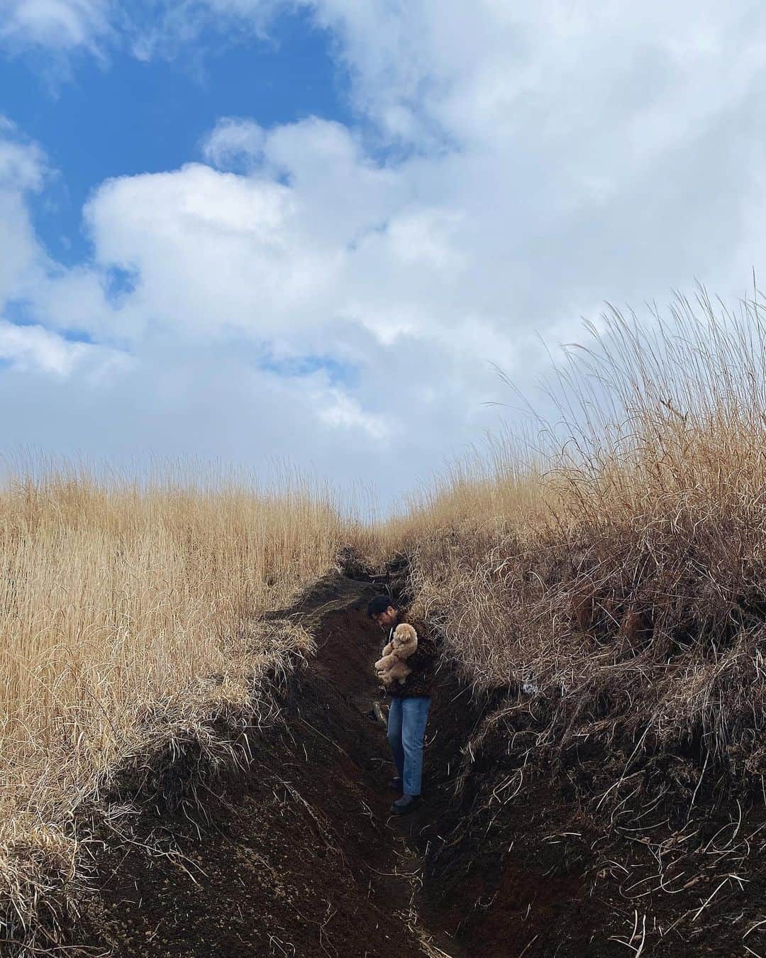
M614 941L733 954L763 917L762 310L701 296L590 332L531 452L473 484L462 467L399 520L417 602L485 709L432 867L491 851L490 829L533 857L512 811L533 795L589 894L635 915Z

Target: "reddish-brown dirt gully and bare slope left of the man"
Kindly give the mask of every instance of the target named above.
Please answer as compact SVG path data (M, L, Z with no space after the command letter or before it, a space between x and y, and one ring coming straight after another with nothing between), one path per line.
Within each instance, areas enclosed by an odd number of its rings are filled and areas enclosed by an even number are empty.
M362 614L370 595L334 580L291 610L312 627L316 659L292 682L282 730L253 745L239 793L212 798L207 827L147 820L98 855L91 953L464 954L420 913L411 839L428 806L389 814L385 731L368 716L381 644Z

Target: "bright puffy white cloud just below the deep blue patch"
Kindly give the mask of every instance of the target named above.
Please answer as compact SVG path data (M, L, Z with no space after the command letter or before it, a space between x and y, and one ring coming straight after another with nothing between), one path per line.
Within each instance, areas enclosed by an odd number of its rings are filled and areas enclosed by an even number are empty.
M98 262L137 271L138 323L269 337L311 323L307 297L332 280L332 255L305 238L292 192L267 179L192 164L113 180L86 218Z

